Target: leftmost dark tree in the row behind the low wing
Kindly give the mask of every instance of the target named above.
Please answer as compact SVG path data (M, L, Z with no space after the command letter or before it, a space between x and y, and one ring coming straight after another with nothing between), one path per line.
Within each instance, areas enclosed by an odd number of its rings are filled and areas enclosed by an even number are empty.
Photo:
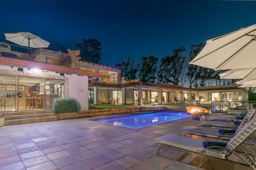
M139 71L140 64L135 64L131 57L128 57L126 63L116 63L115 66L121 69L121 77L125 78L125 80L137 79L137 73Z

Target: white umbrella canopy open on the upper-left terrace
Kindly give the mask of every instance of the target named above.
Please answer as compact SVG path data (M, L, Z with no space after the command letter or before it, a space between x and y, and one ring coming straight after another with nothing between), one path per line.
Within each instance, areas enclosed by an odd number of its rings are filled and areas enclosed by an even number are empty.
M4 35L6 40L25 47L46 48L50 45L49 42L30 32L4 33Z

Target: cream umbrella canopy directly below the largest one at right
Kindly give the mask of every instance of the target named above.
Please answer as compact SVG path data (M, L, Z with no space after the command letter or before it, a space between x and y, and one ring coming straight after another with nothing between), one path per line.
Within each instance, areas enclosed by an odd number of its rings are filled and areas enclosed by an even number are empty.
M223 73L220 73L221 79L255 79L256 68L249 69L232 69Z

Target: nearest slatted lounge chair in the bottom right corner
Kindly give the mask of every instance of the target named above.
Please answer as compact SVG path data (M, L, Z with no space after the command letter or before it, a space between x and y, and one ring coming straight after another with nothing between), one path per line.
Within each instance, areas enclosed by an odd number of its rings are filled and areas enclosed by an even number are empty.
M214 157L222 160L228 160L230 162L235 162L229 158L231 155L235 155L238 158L242 159L244 163L240 163L243 165L251 166L254 170L256 170L256 154L253 150L246 144L247 140L250 140L252 135L256 132L256 116L252 118L250 122L248 122L241 131L239 131L226 145L226 147L221 146L211 146L205 148L203 144L205 141L187 138L180 135L174 134L166 134L161 137L155 138L155 142L160 143L157 150L157 155L159 155L159 151L164 147L173 147L182 150L186 150L189 152L194 152L196 154L201 155L201 159L198 163L198 169L202 166L202 157ZM254 137L253 137L254 138ZM159 155L161 156L161 155ZM234 158L234 157L233 157Z

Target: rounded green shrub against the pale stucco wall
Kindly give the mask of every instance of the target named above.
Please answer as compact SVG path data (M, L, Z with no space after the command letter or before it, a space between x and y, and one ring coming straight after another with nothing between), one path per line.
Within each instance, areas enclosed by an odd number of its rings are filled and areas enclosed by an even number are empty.
M78 111L78 101L75 98L58 98L53 103L53 113L69 113Z

